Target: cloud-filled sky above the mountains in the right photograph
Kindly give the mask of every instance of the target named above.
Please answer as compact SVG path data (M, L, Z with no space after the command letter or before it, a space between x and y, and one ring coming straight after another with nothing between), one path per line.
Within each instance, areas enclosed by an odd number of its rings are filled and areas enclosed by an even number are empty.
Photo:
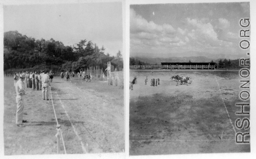
M130 5L130 56L241 54L239 43L249 38L239 37L239 21L250 18L249 8L247 2Z

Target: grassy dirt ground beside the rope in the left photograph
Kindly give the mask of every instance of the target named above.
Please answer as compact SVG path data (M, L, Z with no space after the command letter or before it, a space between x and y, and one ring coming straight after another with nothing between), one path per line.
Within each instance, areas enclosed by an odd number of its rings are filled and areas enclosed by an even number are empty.
M67 154L123 152L125 149L124 90L105 82L66 83L54 77L53 104L61 125ZM5 155L56 154L56 120L52 101L42 100L40 90L26 88L23 119L17 127L16 92L12 77L4 78ZM61 140L60 152L63 154Z

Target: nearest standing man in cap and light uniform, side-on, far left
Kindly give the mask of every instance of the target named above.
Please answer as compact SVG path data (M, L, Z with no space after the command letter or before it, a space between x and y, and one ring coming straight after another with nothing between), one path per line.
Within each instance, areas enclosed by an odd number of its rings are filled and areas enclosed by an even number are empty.
M18 127L25 127L22 122L23 121L23 108L24 108L24 98L25 98L25 91L24 91L24 80L25 80L26 74L22 73L19 76L19 80L17 81L15 85L16 89L16 103L17 103L17 111L16 111L16 124Z

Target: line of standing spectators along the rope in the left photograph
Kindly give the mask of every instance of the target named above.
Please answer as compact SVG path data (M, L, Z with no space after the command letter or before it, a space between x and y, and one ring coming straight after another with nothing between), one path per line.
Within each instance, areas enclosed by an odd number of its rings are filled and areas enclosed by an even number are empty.
M50 71L50 74L52 71ZM17 111L16 111L16 124L19 127L25 127L23 125L23 108L24 108L24 98L25 98L25 87L33 88L33 90L42 90L43 100L49 100L49 96L47 96L47 92L49 89L49 73L45 70L38 72L15 72L14 74L14 85L16 90L16 103L17 103Z

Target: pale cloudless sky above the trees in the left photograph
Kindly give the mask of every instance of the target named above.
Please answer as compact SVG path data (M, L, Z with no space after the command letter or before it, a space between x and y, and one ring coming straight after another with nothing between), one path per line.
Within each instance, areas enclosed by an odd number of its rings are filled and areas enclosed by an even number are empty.
M122 2L5 5L4 32L14 30L68 46L86 39L116 55L122 52Z

